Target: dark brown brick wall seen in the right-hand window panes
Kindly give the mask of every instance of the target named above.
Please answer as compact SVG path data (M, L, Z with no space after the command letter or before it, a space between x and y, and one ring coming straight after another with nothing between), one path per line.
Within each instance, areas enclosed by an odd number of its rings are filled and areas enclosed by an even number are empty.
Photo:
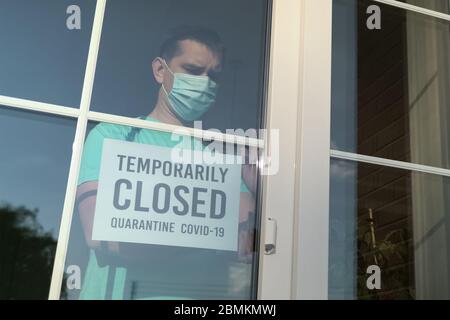
M366 28L358 8L358 149L360 154L410 161L406 60L406 16L383 10L382 29ZM393 14L395 12L395 14ZM373 248L371 221L376 248ZM411 174L373 165L358 170L358 296L362 299L414 297L411 247ZM366 288L366 268L380 265L382 289Z

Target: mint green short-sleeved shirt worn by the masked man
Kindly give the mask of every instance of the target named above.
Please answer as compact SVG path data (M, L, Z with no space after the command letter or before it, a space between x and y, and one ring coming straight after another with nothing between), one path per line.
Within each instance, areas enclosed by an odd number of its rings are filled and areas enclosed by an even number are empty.
M143 119L158 122L151 117ZM172 134L168 132L100 123L91 130L86 139L78 185L98 180L104 139L173 148L179 141L173 141L171 137ZM201 141L190 139L193 150L205 148ZM241 192L249 192L242 180ZM99 263L96 252L90 250L80 299L229 298L226 293L229 275L224 268L234 260L229 252L156 247L159 248L155 252L159 254L155 254L146 263L117 266ZM158 259L163 256L164 258ZM136 289L136 284L142 288Z

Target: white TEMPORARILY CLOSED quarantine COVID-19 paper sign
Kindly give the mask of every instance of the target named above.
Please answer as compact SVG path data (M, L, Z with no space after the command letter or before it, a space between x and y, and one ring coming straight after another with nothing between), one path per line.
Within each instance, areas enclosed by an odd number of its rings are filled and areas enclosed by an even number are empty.
M241 165L171 152L105 139L92 239L237 251Z

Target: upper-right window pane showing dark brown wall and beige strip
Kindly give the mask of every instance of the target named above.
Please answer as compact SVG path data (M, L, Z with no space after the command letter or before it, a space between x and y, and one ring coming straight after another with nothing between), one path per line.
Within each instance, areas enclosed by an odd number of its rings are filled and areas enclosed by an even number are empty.
M333 149L450 168L450 31L446 21L372 1L336 0Z

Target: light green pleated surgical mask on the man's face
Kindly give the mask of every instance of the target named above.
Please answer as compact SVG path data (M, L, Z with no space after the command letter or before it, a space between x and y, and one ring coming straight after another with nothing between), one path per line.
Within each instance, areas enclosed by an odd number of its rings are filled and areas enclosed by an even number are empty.
M164 64L173 75L170 93L162 85L172 110L187 122L200 119L216 101L217 84L207 76L173 73L165 61Z

